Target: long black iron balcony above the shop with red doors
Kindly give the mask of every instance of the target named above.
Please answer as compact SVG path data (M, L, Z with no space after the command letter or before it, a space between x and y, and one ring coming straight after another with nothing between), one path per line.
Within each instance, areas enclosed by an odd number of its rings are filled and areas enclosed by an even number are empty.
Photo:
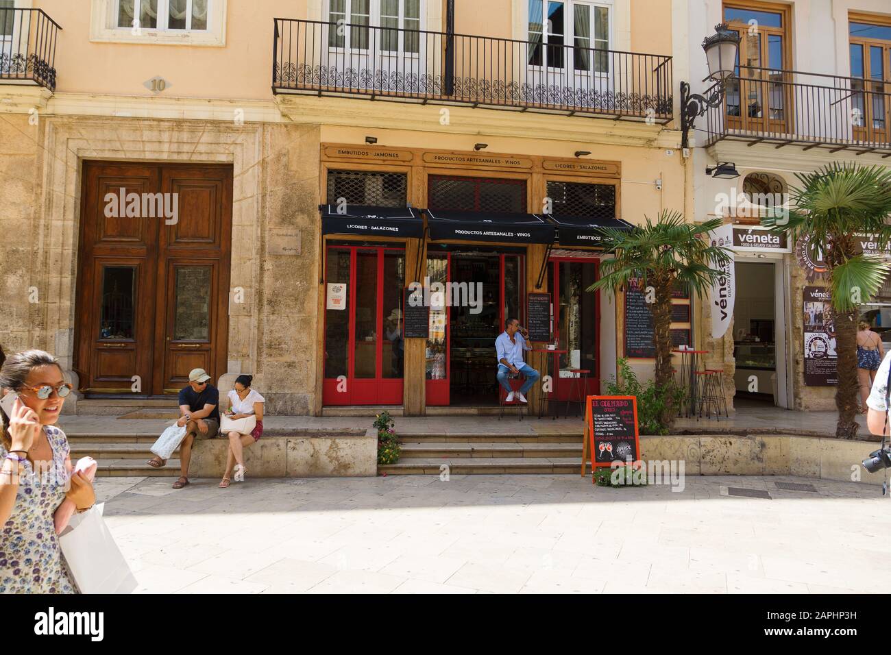
M273 91L511 111L672 119L671 57L275 19Z

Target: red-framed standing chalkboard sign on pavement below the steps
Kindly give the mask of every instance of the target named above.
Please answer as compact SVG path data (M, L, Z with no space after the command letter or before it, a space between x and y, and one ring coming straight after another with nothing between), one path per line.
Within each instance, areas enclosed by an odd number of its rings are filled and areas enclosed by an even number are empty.
M641 442L637 433L637 398L589 396L587 404L587 431L591 435L593 466L609 466L616 460L639 460Z

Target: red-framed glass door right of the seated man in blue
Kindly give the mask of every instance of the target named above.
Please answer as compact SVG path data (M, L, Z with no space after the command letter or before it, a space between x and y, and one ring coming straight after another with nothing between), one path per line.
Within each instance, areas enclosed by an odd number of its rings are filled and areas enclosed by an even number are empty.
M568 351L553 355L550 362L557 400L567 400L573 378L582 377L572 370L589 371L584 373L585 395L601 391L601 299L599 291L587 291L597 280L598 270L598 261L591 258L551 258L548 262L548 289L557 303L552 312L557 349ZM576 399L575 391L572 399Z

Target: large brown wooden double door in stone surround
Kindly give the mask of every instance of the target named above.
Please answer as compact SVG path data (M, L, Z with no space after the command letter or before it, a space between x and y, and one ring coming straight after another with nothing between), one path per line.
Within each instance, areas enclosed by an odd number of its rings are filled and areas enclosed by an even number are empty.
M87 161L78 254L81 389L162 395L226 370L232 167Z

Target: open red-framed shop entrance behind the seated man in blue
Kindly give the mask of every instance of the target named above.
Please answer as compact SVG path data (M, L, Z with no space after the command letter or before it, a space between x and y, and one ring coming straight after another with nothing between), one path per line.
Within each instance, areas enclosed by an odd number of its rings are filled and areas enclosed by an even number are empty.
M428 252L431 286L427 405L497 405L495 339L510 315L525 322L525 256ZM434 293L443 284L440 293Z

